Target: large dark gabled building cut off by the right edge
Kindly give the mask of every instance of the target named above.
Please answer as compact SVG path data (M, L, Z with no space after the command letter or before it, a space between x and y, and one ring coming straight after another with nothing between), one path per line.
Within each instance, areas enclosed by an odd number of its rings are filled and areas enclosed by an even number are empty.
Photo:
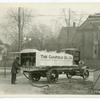
M78 28L81 51L86 59L100 59L100 14L90 15Z

